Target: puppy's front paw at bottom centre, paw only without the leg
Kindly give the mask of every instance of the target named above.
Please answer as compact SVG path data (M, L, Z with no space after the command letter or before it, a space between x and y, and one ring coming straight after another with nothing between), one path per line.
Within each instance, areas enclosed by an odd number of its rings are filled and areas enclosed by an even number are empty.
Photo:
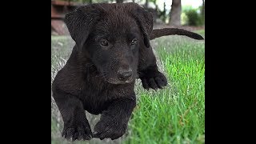
M116 122L99 121L94 127L94 138L111 138L112 140L122 137L126 132L127 124Z

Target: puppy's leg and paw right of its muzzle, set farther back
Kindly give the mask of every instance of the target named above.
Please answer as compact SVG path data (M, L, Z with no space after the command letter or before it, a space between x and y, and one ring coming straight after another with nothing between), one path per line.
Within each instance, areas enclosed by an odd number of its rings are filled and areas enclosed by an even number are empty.
M140 49L138 76L146 90L149 90L149 88L162 89L163 86L167 85L166 76L158 70L151 46Z

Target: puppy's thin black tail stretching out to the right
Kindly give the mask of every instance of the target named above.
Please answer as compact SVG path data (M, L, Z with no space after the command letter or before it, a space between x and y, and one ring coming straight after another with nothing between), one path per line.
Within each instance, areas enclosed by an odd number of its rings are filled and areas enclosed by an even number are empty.
M150 40L152 40L154 38L166 36L166 35L186 35L187 37L198 39L198 40L204 39L204 38L202 38L201 35L187 31L187 30L182 30L182 29L178 29L178 28L163 28L163 29L152 30L152 32L150 34Z

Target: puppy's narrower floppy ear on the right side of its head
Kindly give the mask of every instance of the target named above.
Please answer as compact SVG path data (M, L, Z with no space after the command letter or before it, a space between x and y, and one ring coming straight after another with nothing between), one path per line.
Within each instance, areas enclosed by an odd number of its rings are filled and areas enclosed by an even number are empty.
M150 37L151 31L153 30L153 14L150 11L142 8L141 6L137 6L138 9L132 12L132 16L135 18L138 26L142 30L142 34L144 37L144 45L146 47L150 47Z

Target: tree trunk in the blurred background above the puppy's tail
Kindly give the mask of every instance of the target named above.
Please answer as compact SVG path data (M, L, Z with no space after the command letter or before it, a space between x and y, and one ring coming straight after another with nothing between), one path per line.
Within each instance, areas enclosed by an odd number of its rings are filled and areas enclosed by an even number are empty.
M170 10L170 25L181 26L181 11L182 2L181 0L173 0Z

